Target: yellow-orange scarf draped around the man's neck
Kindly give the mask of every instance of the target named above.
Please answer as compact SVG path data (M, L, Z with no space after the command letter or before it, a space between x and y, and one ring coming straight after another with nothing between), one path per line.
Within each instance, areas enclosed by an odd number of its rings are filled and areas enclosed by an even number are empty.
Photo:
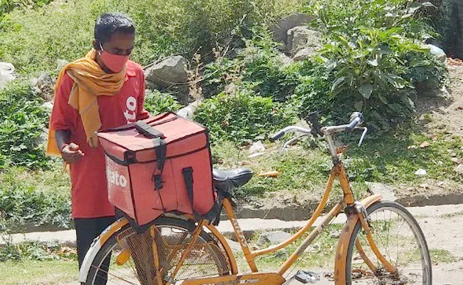
M69 63L60 72L55 86L58 90L63 76L67 73L74 81L69 94L68 104L78 110L82 119L87 142L91 147L98 147L95 132L101 128L98 112L97 96L113 96L117 94L125 82L126 67L119 73L105 73L95 61L96 51L93 49L84 58ZM50 121L52 118L50 118ZM56 145L55 130L48 130L47 155L61 155Z

